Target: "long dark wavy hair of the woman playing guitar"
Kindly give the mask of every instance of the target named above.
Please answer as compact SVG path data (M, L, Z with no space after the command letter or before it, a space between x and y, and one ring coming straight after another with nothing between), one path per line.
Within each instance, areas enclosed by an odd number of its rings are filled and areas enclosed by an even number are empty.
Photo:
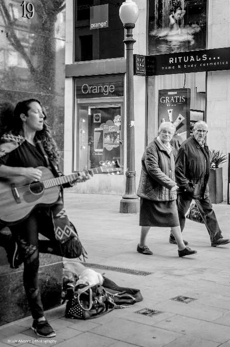
M47 111L45 111L44 107L41 105L40 101L37 99L28 99L21 101L17 103L13 114L12 111L6 114L7 108L5 107L5 112L1 112L3 118L1 119L2 121L2 134L4 132L12 131L13 134L18 135L19 132L23 131L22 127L22 120L20 118L20 114L24 113L27 115L29 109L30 109L30 104L36 102L41 106L42 112L44 114L44 123L43 123L43 129L40 131L36 132L36 139L40 140L45 152L49 155L50 159L54 162L54 164L58 164L60 161L60 154L58 152L57 144L55 140L52 137L51 134L51 129L49 126L49 123L47 122ZM5 114L3 114L5 113ZM5 118L5 122L4 122Z

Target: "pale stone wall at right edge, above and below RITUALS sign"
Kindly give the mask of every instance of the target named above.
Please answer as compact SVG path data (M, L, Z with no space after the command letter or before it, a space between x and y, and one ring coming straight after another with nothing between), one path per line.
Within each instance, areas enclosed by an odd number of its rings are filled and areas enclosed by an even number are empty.
M221 6L220 6L221 4ZM208 49L230 46L230 3L228 0L209 2ZM215 150L230 152L230 71L208 72L207 123L208 145ZM227 163L223 164L223 197L227 201Z

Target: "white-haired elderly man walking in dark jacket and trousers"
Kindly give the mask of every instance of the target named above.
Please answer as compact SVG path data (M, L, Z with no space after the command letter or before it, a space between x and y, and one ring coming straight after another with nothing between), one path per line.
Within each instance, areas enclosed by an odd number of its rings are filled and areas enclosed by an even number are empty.
M206 122L199 120L194 125L193 136L184 141L179 148L175 161L175 178L179 187L177 209L182 232L186 222L185 215L194 199L208 229L211 245L216 247L229 243L230 240L224 239L221 235L209 197L210 152L204 141L207 133ZM175 243L172 234L169 242Z

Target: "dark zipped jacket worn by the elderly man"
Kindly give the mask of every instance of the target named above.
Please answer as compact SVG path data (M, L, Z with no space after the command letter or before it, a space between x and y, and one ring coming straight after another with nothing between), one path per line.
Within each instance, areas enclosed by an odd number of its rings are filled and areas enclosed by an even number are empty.
M205 199L209 196L208 180L210 175L209 147L202 147L192 136L179 148L175 161L178 194Z

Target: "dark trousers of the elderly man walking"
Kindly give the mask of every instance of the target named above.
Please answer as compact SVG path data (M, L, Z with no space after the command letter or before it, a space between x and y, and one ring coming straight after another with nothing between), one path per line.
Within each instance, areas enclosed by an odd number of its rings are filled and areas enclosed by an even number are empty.
M194 200L203 218L205 226L209 232L211 242L215 242L219 238L223 238L223 236L221 235L221 230L219 228L218 221L216 219L215 212L213 211L212 203L210 201L209 196L206 197L205 199L194 199ZM183 231L183 228L185 228L185 222L186 222L185 215L188 212L191 202L192 202L192 197L182 195L182 194L177 195L176 205L178 209L181 232Z

